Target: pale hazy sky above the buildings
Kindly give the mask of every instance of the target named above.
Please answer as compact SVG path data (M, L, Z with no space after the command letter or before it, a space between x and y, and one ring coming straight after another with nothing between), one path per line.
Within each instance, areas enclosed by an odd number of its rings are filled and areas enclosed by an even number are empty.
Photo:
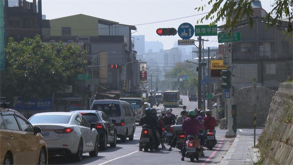
M136 25L205 13L212 8L212 5L208 5L207 2L208 0L42 0L42 13L46 15L46 19L85 14L116 21L121 24ZM270 4L273 4L274 0L262 0L261 2L262 8L269 12L272 9ZM197 10L194 10L194 8L204 4L207 5L204 11L197 12ZM137 32L132 35L145 35L146 41L160 41L164 43L164 49L170 49L173 47L174 41L181 38L178 35L159 36L156 33L157 28L177 29L184 22L195 25L196 21L202 16L205 16L205 14L154 24L137 25ZM209 21L204 21L204 24L209 23ZM222 25L222 21L218 23L219 25ZM203 37L204 39L209 39L209 42L205 42L204 47L217 46L218 42L215 37ZM194 36L191 39L197 38Z

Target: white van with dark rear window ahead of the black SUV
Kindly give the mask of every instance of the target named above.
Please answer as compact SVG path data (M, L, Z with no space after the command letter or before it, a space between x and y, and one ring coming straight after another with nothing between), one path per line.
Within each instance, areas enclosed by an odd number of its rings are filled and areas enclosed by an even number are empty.
M120 100L95 100L90 110L100 110L107 114L112 123L116 126L117 137L121 141L130 141L134 138L135 118L131 105Z

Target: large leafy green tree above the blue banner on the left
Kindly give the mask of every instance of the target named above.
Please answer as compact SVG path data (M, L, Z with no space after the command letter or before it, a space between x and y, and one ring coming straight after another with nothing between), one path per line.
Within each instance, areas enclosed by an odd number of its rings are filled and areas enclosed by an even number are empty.
M1 71L1 93L7 97L52 97L66 85L76 89L77 74L85 64L84 50L74 43L43 44L41 37L17 43L9 38L5 53L7 68Z

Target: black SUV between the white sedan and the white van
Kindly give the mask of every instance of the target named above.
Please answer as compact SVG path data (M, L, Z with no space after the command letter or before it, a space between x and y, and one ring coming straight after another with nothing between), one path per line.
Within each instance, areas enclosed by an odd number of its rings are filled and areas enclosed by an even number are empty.
M99 149L106 150L107 144L110 143L110 147L116 147L117 143L117 131L115 125L110 121L109 117L103 111L91 111L91 110L78 110L78 112L89 123L96 123L96 130L99 133Z

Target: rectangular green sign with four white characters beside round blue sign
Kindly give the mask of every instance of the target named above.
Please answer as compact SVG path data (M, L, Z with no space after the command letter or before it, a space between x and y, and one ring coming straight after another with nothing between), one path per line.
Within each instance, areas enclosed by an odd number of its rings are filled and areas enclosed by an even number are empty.
M217 35L217 25L195 25L194 26L194 36L212 36Z

